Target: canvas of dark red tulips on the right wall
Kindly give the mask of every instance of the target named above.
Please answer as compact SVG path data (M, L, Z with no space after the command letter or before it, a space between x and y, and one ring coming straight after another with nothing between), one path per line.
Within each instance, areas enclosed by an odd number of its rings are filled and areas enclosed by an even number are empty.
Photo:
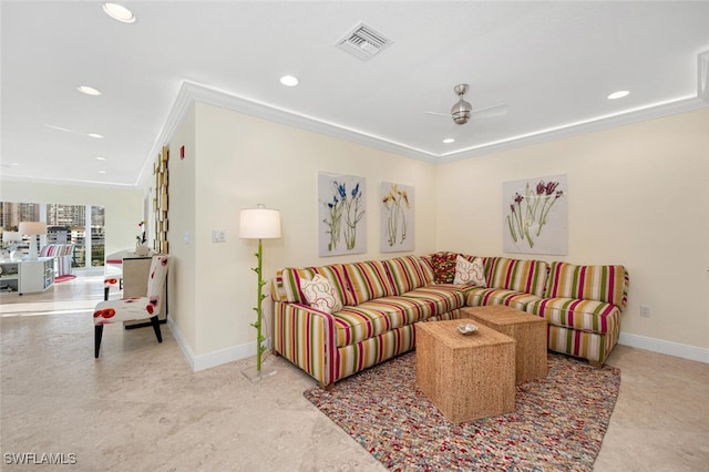
M566 175L504 182L505 253L566 255Z

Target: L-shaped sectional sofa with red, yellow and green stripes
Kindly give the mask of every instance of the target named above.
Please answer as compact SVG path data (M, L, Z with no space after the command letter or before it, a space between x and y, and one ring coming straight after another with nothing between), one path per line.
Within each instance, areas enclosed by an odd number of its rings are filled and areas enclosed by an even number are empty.
M275 352L328 387L411 350L415 322L458 319L461 308L483 305L546 318L549 349L594 363L603 365L616 345L628 281L623 266L460 255L480 267L474 284L454 280L458 256L278 270L271 284Z

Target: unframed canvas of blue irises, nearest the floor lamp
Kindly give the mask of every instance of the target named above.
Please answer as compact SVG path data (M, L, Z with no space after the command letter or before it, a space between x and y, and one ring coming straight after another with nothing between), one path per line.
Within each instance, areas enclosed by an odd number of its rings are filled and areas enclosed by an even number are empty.
M318 174L318 254L367 252L364 177Z

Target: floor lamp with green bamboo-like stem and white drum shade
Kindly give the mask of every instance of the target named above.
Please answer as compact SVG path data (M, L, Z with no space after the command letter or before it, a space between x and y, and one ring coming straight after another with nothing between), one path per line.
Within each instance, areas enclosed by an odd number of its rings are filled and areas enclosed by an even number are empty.
M263 288L264 281L264 252L261 239L275 239L280 237L280 212L277 209L268 209L264 205L257 205L256 208L242 209L239 215L239 237L242 239L258 239L258 252L256 253L257 266L253 268L258 277L257 295L256 295L256 321L251 324L256 328L256 368L244 371L244 374L251 381L258 381L264 377L276 373L274 369L261 369L261 356L266 351L266 337L263 335L264 311L261 302L266 295Z

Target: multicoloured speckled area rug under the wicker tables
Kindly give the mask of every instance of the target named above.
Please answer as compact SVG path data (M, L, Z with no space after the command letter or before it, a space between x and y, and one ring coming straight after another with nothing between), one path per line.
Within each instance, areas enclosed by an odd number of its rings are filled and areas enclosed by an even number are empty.
M415 352L304 394L391 470L590 471L620 371L548 356L546 379L517 386L515 411L452 424L415 387Z

